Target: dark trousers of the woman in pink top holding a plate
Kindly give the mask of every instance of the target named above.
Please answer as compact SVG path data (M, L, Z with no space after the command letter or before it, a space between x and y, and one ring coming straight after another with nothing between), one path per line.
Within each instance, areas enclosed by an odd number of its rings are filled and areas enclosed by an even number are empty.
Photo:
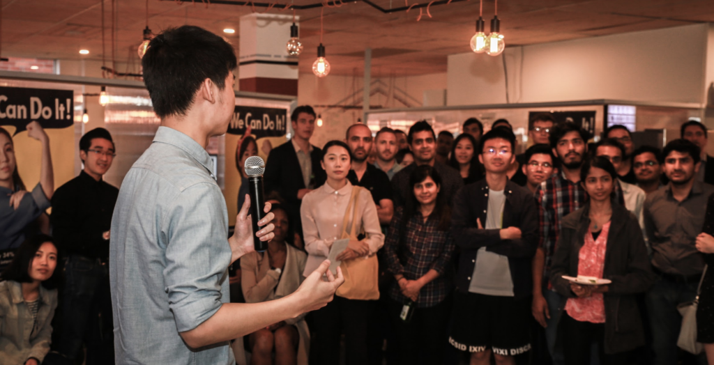
M627 363L627 352L605 354L604 323L580 322L563 311L563 314L560 315L559 329L562 331L560 338L563 339L565 365L590 364L590 349L593 342L598 344L600 364L625 365Z

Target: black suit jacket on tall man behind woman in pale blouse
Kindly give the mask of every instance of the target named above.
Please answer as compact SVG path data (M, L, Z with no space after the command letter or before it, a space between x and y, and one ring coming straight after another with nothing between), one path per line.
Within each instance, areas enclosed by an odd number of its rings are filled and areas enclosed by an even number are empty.
M310 153L312 160L313 188L318 188L325 183L327 175L320 165L322 150L312 146ZM312 179L311 179L312 180ZM263 173L263 182L266 195L271 191L276 191L286 202L288 215L291 218L293 227L301 229L300 224L300 203L298 190L305 189L303 172L300 168L298 155L295 153L293 143L288 140L271 150L266 162L266 171Z

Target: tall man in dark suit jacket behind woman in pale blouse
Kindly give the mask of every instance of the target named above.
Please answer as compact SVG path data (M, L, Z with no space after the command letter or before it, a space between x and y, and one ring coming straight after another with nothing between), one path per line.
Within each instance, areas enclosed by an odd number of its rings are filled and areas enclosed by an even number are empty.
M322 150L310 144L315 130L315 110L298 106L290 117L293 137L271 150L263 174L266 193L278 192L285 200L293 227L302 231L300 203L310 190L325 183L327 175L320 165Z

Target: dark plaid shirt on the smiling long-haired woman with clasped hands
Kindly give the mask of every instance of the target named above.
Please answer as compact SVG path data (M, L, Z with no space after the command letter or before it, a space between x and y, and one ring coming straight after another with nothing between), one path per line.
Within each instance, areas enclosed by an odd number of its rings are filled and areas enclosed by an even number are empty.
M402 274L408 280L423 277L430 269L436 270L439 276L421 288L416 301L418 308L433 307L451 291L451 280L444 274L456 246L448 230L437 230L437 217L431 215L424 222L421 212L415 212L406 222L406 240L400 240L403 214L403 207L398 207L384 242L387 269L391 274ZM397 302L406 302L396 282L392 283L390 297Z

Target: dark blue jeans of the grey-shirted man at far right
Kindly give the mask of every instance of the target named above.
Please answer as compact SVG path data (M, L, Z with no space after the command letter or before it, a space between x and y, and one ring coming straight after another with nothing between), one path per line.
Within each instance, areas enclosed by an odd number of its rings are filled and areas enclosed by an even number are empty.
M682 316L677 305L691 302L697 296L698 282L673 282L660 279L650 288L645 296L647 312L652 329L655 365L677 364L680 327ZM704 354L697 356L697 364L706 364Z

